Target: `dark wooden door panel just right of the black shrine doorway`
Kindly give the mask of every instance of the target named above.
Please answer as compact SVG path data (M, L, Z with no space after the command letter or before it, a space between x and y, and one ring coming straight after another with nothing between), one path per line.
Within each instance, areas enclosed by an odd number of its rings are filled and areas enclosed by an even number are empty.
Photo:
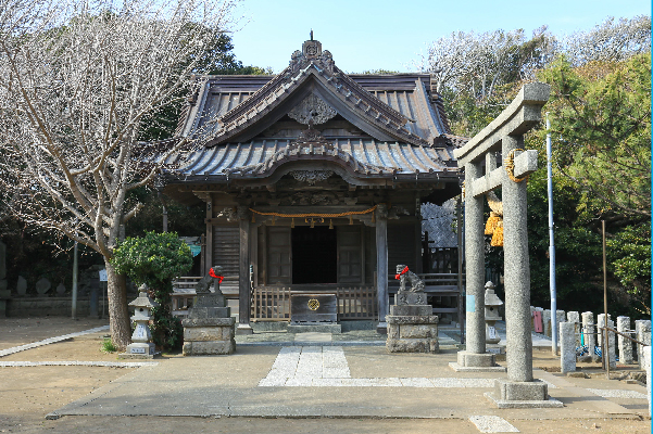
M362 283L363 248L360 226L338 226L338 283Z

